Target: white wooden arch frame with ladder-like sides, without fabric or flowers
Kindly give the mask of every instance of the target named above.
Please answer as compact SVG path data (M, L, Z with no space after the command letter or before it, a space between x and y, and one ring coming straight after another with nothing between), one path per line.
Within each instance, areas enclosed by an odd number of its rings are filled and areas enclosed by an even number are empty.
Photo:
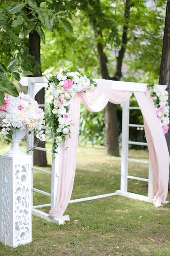
M96 79L95 79L96 80ZM21 77L20 84L23 86L28 87L28 95L31 96L32 99L35 98L35 95L42 89L42 87L47 87L48 86L48 76L41 76L41 77ZM164 89L166 88L165 85L161 85ZM133 82L124 82L124 81L113 81L112 84L112 90L126 90L126 91L132 91L132 92L146 92L147 90L147 84L143 83L133 83ZM40 107L48 107L49 105L40 105ZM136 160L136 159L131 159L128 158L128 145L133 144L133 145L144 145L147 146L147 143L142 143L142 142L133 142L129 141L129 127L144 127L144 125L136 125L136 124L130 124L129 123L129 111L130 109L140 109L139 107L130 107L129 105L129 100L127 100L125 103L122 104L122 160L121 160L121 184L120 184L120 190L117 190L116 192L110 193L110 194L105 194L105 195L97 195L97 196L92 196L88 198L79 198L75 200L71 200L70 203L76 203L76 202L82 202L82 201L88 201L88 200L94 200L98 198L105 198L113 195L121 195L125 196L128 198L133 198L133 199L138 199L141 201L146 201L153 203L153 195L154 195L154 190L153 190L153 173L152 173L152 168L150 161L143 161L143 160ZM51 127L44 127L45 129L51 129ZM53 134L54 138L54 134ZM30 146L34 145L34 137L33 135L30 135L28 137L28 148ZM36 147L35 149L37 150L42 150L42 151L50 151L52 152L52 149L48 148L40 148ZM58 183L58 177L59 177L59 150L58 154L55 154L55 158L52 155L52 169L51 172L43 170L43 169L38 169L34 168L34 152L30 151L32 155L32 214L37 215L38 217L45 218L48 221L53 221L58 224L63 224L63 220L60 218L49 218L48 214L45 212L40 211L39 209L42 207L51 207L51 209L54 209L55 207L55 202L57 198L57 183ZM137 162L137 163L144 163L148 164L149 166L149 176L148 179L142 178L142 177L134 177L128 175L128 162ZM43 172L46 174L51 175L51 193L42 191L40 189L36 189L33 186L33 172L38 171L38 172ZM148 196L144 195L139 195L135 193L131 193L127 191L127 182L128 179L134 179L134 180L142 180L145 182L148 182ZM51 204L42 204L42 205L36 205L33 206L33 192L38 192L43 195L47 195L51 197Z

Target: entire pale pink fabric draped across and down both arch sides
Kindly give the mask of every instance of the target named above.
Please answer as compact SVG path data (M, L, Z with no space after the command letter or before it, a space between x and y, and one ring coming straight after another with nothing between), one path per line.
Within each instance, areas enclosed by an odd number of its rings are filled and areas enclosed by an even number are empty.
M111 90L112 81L99 79L98 87L91 93L77 93L73 99L71 139L68 137L65 145L60 146L59 183L55 208L49 212L51 218L69 220L63 216L67 208L74 185L74 175L77 161L77 146L79 134L80 99L91 112L101 111L108 101L120 104L130 98L132 92ZM134 93L144 116L145 133L153 167L154 186L156 196L154 203L159 206L166 203L168 178L169 178L169 153L167 143L156 116L153 99L149 93ZM67 150L65 150L67 148Z

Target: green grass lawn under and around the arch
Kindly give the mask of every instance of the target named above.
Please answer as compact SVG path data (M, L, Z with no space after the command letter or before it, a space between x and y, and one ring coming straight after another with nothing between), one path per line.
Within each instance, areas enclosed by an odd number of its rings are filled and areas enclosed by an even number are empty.
M0 154L9 147L0 143ZM129 157L148 160L149 156L147 151L129 150ZM51 170L49 152L48 163L45 169ZM101 146L79 146L71 199L115 192L120 188L120 166L121 158L106 157ZM145 164L131 162L128 171L148 177ZM34 173L35 188L50 192L50 183L51 175ZM128 191L147 195L147 183L129 180ZM34 205L49 202L48 197L34 194ZM170 256L170 204L156 208L113 196L69 204L65 213L71 221L61 226L32 216L32 243L16 249L0 244L0 256Z

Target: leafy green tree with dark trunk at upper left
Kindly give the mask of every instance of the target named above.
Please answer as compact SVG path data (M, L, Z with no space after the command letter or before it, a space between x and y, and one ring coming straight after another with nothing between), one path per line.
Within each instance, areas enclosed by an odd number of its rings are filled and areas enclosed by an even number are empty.
M60 6L61 3L62 1L59 1ZM4 61L4 64L6 64L6 57L10 59L17 56L21 59L19 67L28 66L29 69L33 71L34 76L42 76L40 63L40 38L45 43L43 29L47 29L51 32L55 24L61 23L68 33L73 33L71 24L65 17L63 17L64 12L60 11L54 13L54 9L49 8L50 4L53 4L52 0L44 2L40 0L25 0L13 1L12 3L8 0L1 1L0 25L3 35L0 35L0 41L2 42L1 58L2 61ZM63 4L63 6L65 5ZM20 39L19 36L22 39ZM3 38L6 38L6 41L3 41ZM13 42L11 42L11 39ZM23 56L25 58L23 58ZM4 64L1 63L0 66L1 104L3 104L4 92L11 93L14 96L18 95L16 88L8 81L6 76L8 75L9 78L10 76L11 78L13 76L15 79L20 80L19 73L14 69L14 64L17 64L17 59L12 61L7 68ZM20 73L22 72L20 71ZM33 73L26 72L25 74L32 75ZM40 93L37 94L36 100L39 104L44 103L44 95L44 90L41 90ZM41 147L45 146L42 143L39 145ZM45 151L38 151L34 156L35 165L47 165Z

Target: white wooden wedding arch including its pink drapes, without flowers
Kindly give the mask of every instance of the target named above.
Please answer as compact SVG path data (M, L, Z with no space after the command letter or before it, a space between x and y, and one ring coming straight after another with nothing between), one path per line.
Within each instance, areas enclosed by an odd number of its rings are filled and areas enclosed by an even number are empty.
M110 80L104 80L104 79L99 79L95 81L97 81L97 83L100 85L99 88L97 87L98 89L96 89L98 90L98 93L99 93L98 95L100 95L100 93L102 92L102 86L103 87L105 86L105 91L111 90L112 92L109 101L115 104L120 104L123 102L122 103L122 163L121 163L120 190L117 190L116 192L113 192L110 194L97 195L97 196L92 196L88 198L79 198L75 200L70 200L71 192L73 189L73 183L74 183L77 150L74 152L74 162L71 164L71 167L69 167L73 169L73 171L71 169L71 172L68 172L70 171L68 166L63 166L63 154L65 154L63 151L64 147L61 147L61 148L59 147L57 149L58 153L55 154L55 158L53 153L51 172L46 171L44 169L35 168L34 163L32 161L32 202L33 202L33 192L41 193L43 195L47 195L51 197L51 204L42 204L42 205L33 206L33 203L32 203L32 214L37 215L38 217L41 217L41 218L45 218L48 221L54 221L58 224L63 224L65 220L69 220L69 216L62 216L63 212L68 206L68 203L94 200L94 199L109 197L113 195L121 195L128 198L138 199L138 200L146 201L150 203L153 203L153 201L155 201L156 206L160 206L161 203L167 202L166 197L167 197L168 177L169 177L169 154L168 154L168 149L166 145L166 140L164 138L164 134L161 130L161 126L156 116L153 100L150 98L150 95L147 91L147 84L123 82L123 81L110 81ZM48 77L47 76L31 77L31 78L22 77L20 80L20 83L23 86L28 87L28 94L31 96L32 99L34 99L35 95L38 93L39 90L42 89L42 87L48 86ZM166 86L164 85L161 85L161 87L163 87L164 89L166 88ZM132 92L136 97L139 107L130 107L129 105L129 98L132 95ZM84 93L84 95L85 94L86 93ZM91 99L89 99L87 104L86 102L87 99L83 97L86 97L86 96L83 96L83 94L80 93L79 98L82 100L85 107L88 108L90 111L96 111L96 106L94 106L94 102ZM77 111L79 111L79 101L77 100L78 96L77 97L75 96L74 98L75 98L74 104L75 105L78 104L76 105L76 107L78 109ZM101 99L99 97L98 98L96 97L95 100L96 100L95 104L100 105L99 100ZM106 99L104 101L105 101L104 105L106 105L108 100ZM48 107L48 106L49 105L40 105L40 107ZM76 108L74 108L72 111L73 119L75 119L75 115L76 115L76 114L74 115L75 109ZM136 124L129 123L130 109L141 109L142 114L144 116L144 125L136 125ZM77 114L79 116L78 112ZM77 124L79 124L77 119L75 119L74 122L77 122ZM145 128L147 143L129 141L129 127ZM46 126L44 128L51 129L51 127L46 127ZM74 127L74 130L76 129L77 128ZM75 137L76 136L78 137L78 131L75 131L75 133L76 132L77 132L77 135L75 135ZM71 137L72 136L74 137L74 134L72 134ZM54 140L54 134L53 134L53 140ZM34 144L34 137L33 135L30 135L28 138L28 145L33 146L33 144ZM76 148L77 139L75 140L74 144ZM130 144L144 145L144 146L148 145L149 152L152 154L152 157L150 157L150 160L143 161L143 160L136 160L136 159L129 158L128 145ZM35 149L52 152L52 149L48 149L48 148L36 147ZM36 153L33 151L30 151L29 154L32 155L32 159L33 159L33 154L36 154ZM67 154L69 154L68 150L67 150ZM128 175L129 161L148 164L149 166L148 179ZM51 193L34 188L33 186L34 171L43 172L48 175L51 175ZM65 187L68 186L68 184L66 184L68 181L65 181L65 179L61 177L62 172L65 172L65 175L66 174L72 175L69 177L72 183L69 184L70 187L68 191L66 191L65 189ZM60 177L60 180L59 180L59 177ZM148 196L128 192L127 191L128 179L142 180L147 182ZM154 196L155 196L155 199L153 200ZM65 198L67 198L67 200L65 200ZM51 207L51 211L49 215L45 212L40 211L40 208L49 207L49 206ZM57 209L57 207L59 208L59 210Z

